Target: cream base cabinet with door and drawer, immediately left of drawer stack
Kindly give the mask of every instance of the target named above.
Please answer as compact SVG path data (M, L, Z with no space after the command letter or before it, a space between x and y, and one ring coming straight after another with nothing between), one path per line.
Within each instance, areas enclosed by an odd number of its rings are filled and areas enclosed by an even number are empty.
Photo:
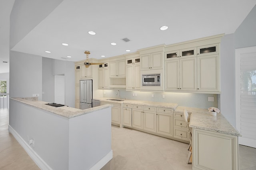
M157 107L156 112L156 132L172 137L173 113L172 109Z

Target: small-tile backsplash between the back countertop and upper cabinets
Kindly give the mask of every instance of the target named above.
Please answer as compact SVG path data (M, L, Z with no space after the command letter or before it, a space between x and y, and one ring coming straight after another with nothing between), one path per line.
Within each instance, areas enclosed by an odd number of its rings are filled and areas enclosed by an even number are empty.
M120 91L118 92L118 95L116 95L117 90ZM176 103L178 104L178 106L196 107L202 109L208 109L209 107L218 107L217 94L198 94L182 92L140 92L126 91L122 88L102 90L102 93L104 94L103 97L106 98L118 98L120 96L121 99L127 98L127 100L146 100L153 102ZM153 96L154 98L152 98ZM214 102L208 102L208 97L214 97Z

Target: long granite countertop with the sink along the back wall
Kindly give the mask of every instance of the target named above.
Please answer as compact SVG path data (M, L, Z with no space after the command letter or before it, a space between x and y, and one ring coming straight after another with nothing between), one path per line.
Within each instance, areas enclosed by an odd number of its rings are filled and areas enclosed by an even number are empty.
M140 104L140 105L155 106L155 107L165 107L165 108L170 108L170 109L176 109L176 107L178 107L178 104L175 104L175 103L152 102L152 101L144 101L144 100L113 101L113 100L107 100L107 99L111 99L111 98L95 98L95 99L101 100L104 102Z

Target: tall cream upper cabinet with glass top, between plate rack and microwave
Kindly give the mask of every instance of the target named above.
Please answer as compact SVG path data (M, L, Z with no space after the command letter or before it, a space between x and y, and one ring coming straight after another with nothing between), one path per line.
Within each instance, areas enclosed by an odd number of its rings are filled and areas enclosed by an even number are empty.
M126 59L126 90L140 90L140 58Z

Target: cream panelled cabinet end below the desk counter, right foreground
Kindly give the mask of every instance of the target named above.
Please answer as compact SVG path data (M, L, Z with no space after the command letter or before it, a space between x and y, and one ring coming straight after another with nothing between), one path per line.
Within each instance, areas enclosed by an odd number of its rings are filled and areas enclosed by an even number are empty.
M193 128L192 170L238 170L238 137Z

